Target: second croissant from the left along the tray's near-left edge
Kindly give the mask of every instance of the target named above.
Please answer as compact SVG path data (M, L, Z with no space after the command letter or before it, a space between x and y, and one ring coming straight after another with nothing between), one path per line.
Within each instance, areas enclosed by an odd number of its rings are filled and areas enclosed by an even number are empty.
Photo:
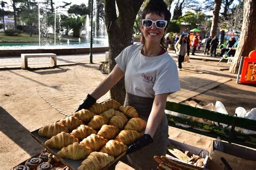
M51 137L49 140L45 141L45 145L51 148L63 148L74 142L78 142L78 139L66 132L60 132L56 136Z

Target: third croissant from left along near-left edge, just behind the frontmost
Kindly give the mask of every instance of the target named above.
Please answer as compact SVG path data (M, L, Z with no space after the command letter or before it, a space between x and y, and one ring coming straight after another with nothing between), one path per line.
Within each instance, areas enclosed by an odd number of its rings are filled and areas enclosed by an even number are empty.
M62 150L57 152L57 154L62 158L79 160L85 159L91 152L92 149L90 147L75 142L66 147L63 147Z

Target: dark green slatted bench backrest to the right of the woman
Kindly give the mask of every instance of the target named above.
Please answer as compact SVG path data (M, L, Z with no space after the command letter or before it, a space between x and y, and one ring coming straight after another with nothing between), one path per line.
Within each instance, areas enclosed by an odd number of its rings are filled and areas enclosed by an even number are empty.
M181 116L174 116L173 114L166 114L169 126L173 126L174 128L183 129L186 131L191 131L194 133L203 134L208 137L217 138L220 137L223 140L228 141L228 143L239 144L247 147L256 148L256 135L252 134L244 134L241 132L235 131L235 127L240 127L248 130L256 131L256 121L246 118L241 118L237 116L220 114L219 112L209 111L200 108L194 108L189 105L184 105L180 103L174 102L166 102L166 110L170 110L173 112L177 112L179 114L199 117L203 119L208 119L209 121L213 121L216 123L223 123L229 126L229 128L208 125L204 123L200 123L197 121L192 121L192 119L184 118ZM184 128L183 126L177 125L186 124L191 125L191 128ZM204 132L198 129L207 130L210 132Z

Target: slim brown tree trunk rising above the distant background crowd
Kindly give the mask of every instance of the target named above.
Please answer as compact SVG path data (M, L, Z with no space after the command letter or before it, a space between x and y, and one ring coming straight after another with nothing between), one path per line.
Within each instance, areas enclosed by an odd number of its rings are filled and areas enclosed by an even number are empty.
M214 0L214 10L212 16L212 26L211 26L211 36L217 36L218 22L219 22L219 12L220 12L221 0Z

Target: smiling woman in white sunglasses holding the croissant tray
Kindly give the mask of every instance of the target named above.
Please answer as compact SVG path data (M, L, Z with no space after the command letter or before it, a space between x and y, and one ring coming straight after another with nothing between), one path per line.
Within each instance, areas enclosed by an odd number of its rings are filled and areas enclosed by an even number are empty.
M180 90L176 63L163 47L170 17L163 0L151 0L142 15L143 44L126 47L115 59L117 65L109 76L78 108L90 107L125 76L124 105L132 105L147 121L143 137L130 145L122 158L135 169L156 169L153 156L165 155L167 150L166 100Z

